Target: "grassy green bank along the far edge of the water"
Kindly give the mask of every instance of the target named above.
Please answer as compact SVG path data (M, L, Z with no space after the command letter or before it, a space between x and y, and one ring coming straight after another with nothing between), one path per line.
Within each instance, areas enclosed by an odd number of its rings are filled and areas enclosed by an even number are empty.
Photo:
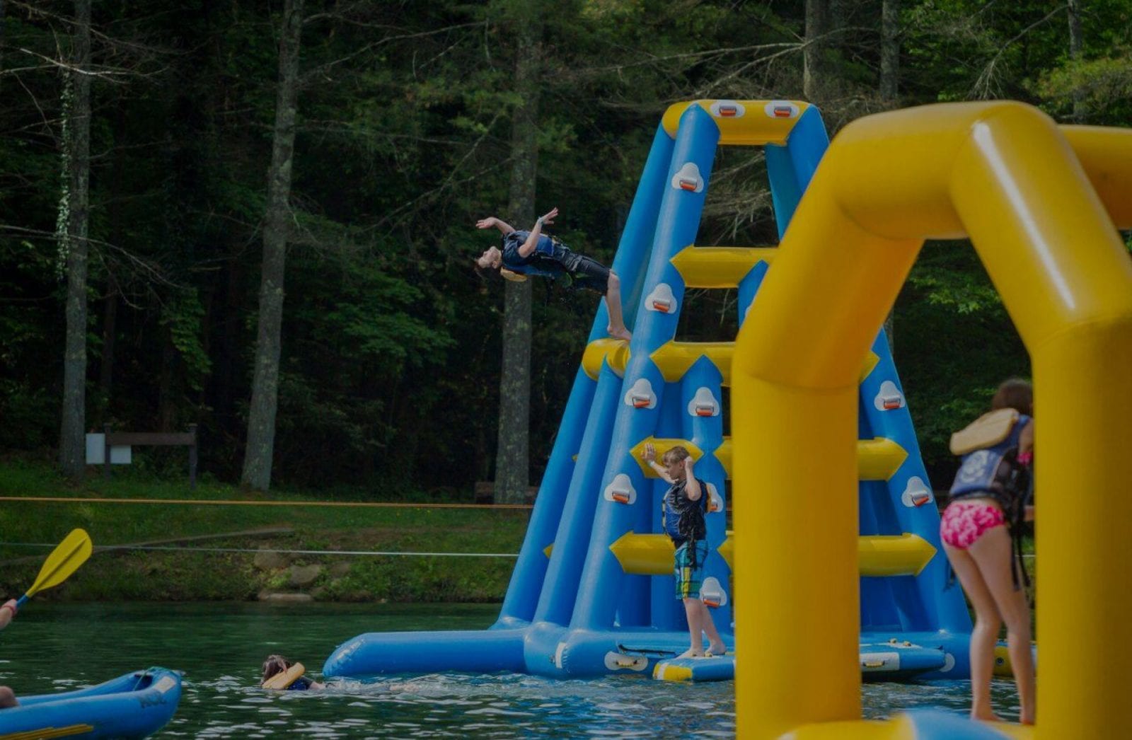
M160 480L138 471L115 470L110 481L92 472L76 487L50 464L27 459L0 462L0 496L52 499L0 504L0 594L18 595L35 579L50 549L28 544L57 543L75 527L89 532L95 545L178 548L95 552L67 583L36 596L71 601L250 600L263 592L302 592L326 601L499 601L514 558L333 552L257 558L256 551L515 553L530 517L529 510L511 509L309 507L300 504L377 497L363 491L265 496L213 482L200 482L190 491L187 481ZM134 502L89 500L96 498ZM139 499L240 505L142 504ZM315 579L295 585L293 578L301 568L293 566L311 565L321 566L315 569Z

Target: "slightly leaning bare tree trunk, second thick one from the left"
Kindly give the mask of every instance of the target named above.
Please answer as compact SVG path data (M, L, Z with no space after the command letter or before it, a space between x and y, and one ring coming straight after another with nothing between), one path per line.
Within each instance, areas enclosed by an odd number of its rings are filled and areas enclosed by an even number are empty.
M264 265L259 282L259 329L256 338L248 441L241 482L266 491L272 482L275 412L278 402L280 345L283 326L283 270L291 218L291 165L294 154L295 100L299 87L299 41L303 0L283 5L280 40L280 88L275 102L272 166L267 173L264 214Z

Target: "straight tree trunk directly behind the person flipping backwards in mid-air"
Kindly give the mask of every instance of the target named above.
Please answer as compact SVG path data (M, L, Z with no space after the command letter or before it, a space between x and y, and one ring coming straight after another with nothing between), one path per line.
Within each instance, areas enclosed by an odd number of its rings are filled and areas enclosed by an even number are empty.
M534 222L534 188L539 165L539 38L542 19L533 0L518 19L515 92L521 97L511 129L511 198L507 213L516 229ZM505 281L503 372L499 378L499 447L496 453L495 500L522 504L530 481L531 430L531 281Z

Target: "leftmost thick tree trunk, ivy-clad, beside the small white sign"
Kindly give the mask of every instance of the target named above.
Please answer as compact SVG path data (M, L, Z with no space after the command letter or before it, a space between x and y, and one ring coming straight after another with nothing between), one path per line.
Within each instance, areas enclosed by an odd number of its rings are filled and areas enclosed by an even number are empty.
M91 0L75 2L71 63L91 63ZM79 480L86 466L86 272L91 174L91 78L68 72L63 88L63 180L60 203L60 257L67 258L67 336L63 341L63 404L59 465ZM70 100L66 100L69 97Z

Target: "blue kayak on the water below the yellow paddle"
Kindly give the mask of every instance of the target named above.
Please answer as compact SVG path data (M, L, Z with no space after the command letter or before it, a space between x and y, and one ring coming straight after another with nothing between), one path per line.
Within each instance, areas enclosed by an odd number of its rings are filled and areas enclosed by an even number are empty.
M16 698L19 706L0 709L0 740L144 738L173 717L181 677L151 668L77 691Z

